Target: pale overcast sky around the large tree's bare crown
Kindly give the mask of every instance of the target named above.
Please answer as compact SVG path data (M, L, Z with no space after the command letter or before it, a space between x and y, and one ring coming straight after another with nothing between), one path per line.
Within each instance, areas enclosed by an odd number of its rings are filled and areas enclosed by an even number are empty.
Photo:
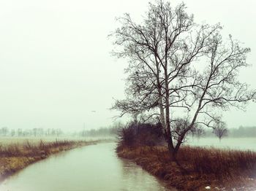
M181 1L171 1L177 4ZM241 80L256 88L256 1L184 1L198 22L251 47ZM124 98L125 61L111 57L115 17L140 20L146 0L0 1L0 128L79 130L110 125L113 98ZM95 110L96 112L91 112ZM256 108L225 113L228 127L256 125Z

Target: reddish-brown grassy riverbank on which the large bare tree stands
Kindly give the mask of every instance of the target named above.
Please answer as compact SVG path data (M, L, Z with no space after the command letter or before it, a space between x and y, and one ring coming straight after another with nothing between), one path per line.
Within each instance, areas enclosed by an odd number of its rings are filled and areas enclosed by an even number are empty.
M166 147L121 147L119 157L135 161L178 190L255 190L256 152L182 147L181 166L170 161Z

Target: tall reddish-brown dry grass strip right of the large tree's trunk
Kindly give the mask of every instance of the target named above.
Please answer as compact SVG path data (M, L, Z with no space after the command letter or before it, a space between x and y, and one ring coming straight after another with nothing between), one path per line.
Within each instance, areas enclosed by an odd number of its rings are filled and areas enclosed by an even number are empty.
M253 178L256 176L256 152L231 149L206 149L183 147L178 159L189 163L192 171L200 175L213 174L216 177L237 177L241 173Z

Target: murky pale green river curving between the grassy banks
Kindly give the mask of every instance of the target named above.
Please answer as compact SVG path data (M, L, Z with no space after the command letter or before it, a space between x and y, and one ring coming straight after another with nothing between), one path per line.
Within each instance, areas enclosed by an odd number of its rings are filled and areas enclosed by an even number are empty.
M1 191L167 190L162 182L129 160L116 144L97 144L62 152L11 176Z

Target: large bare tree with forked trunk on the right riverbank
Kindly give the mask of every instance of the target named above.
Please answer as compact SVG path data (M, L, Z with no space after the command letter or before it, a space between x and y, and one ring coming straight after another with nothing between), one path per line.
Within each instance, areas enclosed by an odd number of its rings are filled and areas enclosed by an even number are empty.
M140 24L128 14L119 18L121 27L112 34L119 47L114 55L129 59L127 98L116 101L113 109L121 116L157 115L173 160L190 130L211 127L220 109L243 109L255 96L237 79L239 69L247 66L249 49L231 36L226 45L219 24L197 25L185 10L184 4L173 8L158 1L149 4ZM180 113L186 125L177 133L172 124Z

